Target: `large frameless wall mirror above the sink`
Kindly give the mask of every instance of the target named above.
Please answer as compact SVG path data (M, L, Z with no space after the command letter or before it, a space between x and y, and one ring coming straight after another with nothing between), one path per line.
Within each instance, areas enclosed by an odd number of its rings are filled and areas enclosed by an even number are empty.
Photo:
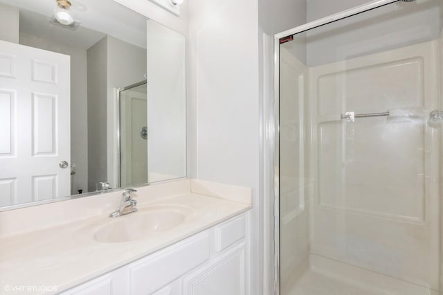
M0 0L0 210L181 177L186 37L113 0Z

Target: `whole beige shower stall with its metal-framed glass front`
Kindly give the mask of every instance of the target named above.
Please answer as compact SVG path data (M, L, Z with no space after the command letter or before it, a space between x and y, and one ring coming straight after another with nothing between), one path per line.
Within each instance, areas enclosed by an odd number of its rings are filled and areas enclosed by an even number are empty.
M443 1L275 35L276 294L442 289Z

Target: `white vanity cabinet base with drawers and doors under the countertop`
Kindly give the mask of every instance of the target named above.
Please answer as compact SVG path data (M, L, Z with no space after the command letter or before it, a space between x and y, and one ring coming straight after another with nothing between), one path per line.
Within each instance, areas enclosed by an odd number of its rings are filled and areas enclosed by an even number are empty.
M246 294L246 214L62 294Z

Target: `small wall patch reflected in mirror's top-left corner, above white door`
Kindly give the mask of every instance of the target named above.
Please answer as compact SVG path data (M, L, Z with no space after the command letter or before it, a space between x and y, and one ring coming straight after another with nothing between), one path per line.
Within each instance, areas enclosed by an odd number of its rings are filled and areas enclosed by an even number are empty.
M19 10L0 5L0 40L19 43Z

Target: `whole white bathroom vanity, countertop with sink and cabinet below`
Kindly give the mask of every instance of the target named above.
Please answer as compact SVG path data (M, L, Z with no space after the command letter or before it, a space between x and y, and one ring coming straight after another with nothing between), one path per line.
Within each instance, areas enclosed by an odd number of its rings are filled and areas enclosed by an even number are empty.
M250 189L146 186L111 218L121 195L1 212L0 294L247 294Z

